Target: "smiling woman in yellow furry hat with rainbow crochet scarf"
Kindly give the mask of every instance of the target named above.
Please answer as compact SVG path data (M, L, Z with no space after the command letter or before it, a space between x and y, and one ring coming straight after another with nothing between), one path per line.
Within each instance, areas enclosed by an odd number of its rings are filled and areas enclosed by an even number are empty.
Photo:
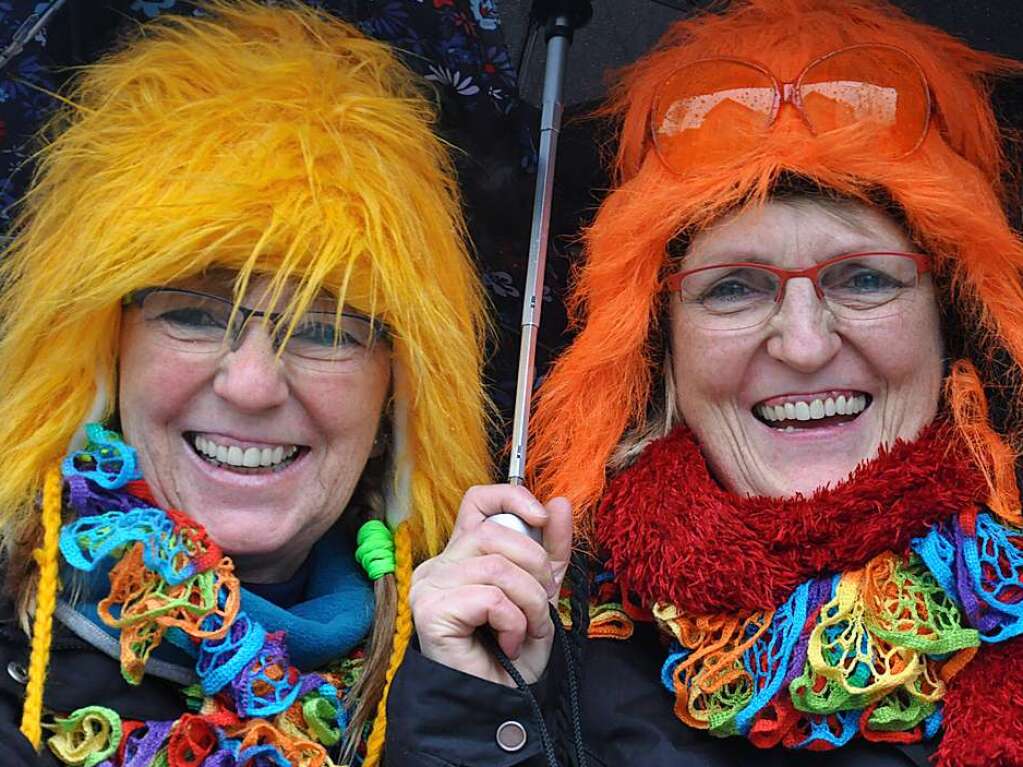
M201 9L78 75L0 266L4 765L379 763L412 563L488 475L425 88Z

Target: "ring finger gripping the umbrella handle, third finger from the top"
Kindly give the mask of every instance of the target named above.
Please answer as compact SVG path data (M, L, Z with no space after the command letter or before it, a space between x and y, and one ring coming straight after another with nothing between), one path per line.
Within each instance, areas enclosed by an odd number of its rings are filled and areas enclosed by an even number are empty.
M527 632L534 639L550 633L550 595L537 580L499 554L488 554L460 561L434 572L429 586L454 594L472 585L496 586L526 617ZM452 602L452 608L457 605Z

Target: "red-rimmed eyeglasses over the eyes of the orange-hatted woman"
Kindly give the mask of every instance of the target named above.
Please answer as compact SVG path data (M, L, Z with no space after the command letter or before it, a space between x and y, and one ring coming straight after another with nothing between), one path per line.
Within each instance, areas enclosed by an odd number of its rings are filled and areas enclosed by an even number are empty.
M770 319L793 279L808 279L836 317L875 321L901 314L919 294L931 260L920 253L872 251L821 261L807 269L737 262L686 269L668 277L685 318L709 330L744 330Z

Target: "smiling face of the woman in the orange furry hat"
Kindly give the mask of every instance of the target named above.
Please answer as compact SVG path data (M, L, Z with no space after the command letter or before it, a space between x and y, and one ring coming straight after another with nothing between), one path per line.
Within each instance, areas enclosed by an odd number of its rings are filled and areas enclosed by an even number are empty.
M852 253L914 252L887 214L858 202L773 200L696 235L682 268L762 262L806 269ZM808 279L742 330L699 327L671 297L675 404L712 472L741 495L808 494L844 480L881 445L911 440L935 415L942 380L930 277L897 314L836 317Z

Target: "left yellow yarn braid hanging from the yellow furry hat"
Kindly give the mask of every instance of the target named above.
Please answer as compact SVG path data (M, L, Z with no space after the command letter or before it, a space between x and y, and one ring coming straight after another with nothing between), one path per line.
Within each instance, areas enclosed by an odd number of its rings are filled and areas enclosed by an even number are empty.
M60 467L46 473L43 485L43 547L34 552L39 565L39 588L36 594L36 618L32 626L32 655L29 658L29 683L21 710L21 732L39 749L42 739L43 687L50 661L53 639L53 611L57 604L57 539L60 533Z

